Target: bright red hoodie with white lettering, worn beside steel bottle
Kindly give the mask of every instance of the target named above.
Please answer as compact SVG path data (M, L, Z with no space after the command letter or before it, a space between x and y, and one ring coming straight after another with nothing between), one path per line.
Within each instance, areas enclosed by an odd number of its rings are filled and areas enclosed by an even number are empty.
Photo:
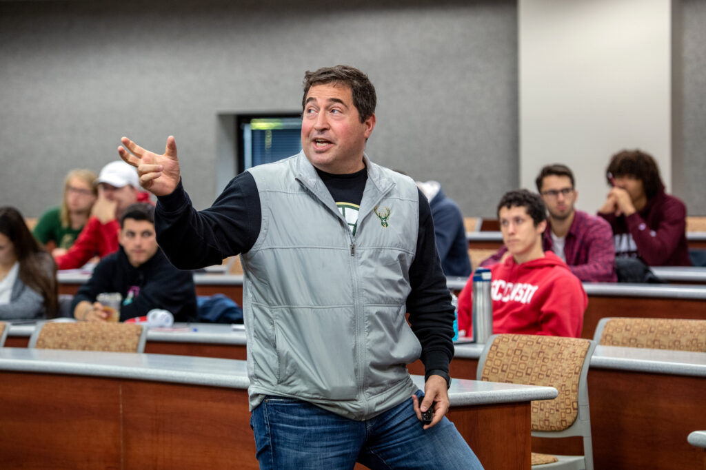
M518 265L512 256L490 268L493 333L581 337L588 297L569 267L551 251ZM473 280L458 296L458 329L471 336Z

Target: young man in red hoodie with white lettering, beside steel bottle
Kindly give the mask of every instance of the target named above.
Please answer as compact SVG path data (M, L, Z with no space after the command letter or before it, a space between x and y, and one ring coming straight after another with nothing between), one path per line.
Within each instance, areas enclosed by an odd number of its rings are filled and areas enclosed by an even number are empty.
M510 191L498 204L510 255L490 267L493 333L580 337L588 297L578 277L543 251L546 209L538 194ZM458 329L472 332L472 281L458 298Z

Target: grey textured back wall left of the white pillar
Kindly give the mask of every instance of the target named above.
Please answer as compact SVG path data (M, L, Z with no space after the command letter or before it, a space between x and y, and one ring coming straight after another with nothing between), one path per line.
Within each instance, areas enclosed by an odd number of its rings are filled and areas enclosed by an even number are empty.
M378 91L373 160L491 215L517 181L515 2L351 3L0 2L1 203L40 215L121 135L161 150L174 134L205 207L219 114L298 112L304 71L351 64Z

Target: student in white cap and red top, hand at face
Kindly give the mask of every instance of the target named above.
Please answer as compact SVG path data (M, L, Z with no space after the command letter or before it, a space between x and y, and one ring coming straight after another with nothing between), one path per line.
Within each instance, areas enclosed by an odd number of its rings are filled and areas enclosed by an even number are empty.
M149 200L149 194L139 191L137 171L122 160L105 165L98 179L98 200L91 217L78 239L64 255L54 258L60 270L81 267L93 257L103 258L118 250L118 219L133 203Z

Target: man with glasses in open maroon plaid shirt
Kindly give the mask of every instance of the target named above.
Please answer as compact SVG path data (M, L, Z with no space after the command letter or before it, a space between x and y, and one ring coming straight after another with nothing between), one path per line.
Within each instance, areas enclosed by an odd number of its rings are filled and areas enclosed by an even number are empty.
M548 213L544 251L556 254L583 282L616 282L613 231L601 217L575 209L573 172L562 164L546 165L535 183ZM507 251L503 246L481 265L498 263Z

